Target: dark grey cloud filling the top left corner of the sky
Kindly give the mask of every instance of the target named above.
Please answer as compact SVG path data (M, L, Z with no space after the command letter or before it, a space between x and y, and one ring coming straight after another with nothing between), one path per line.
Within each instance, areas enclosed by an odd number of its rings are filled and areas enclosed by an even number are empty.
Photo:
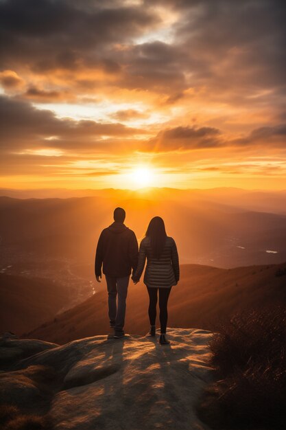
M84 3L84 2L82 2ZM102 48L141 35L159 19L120 2L6 0L0 2L0 54L3 67L26 64L37 71L76 69L90 64L108 71L120 67ZM110 2L109 2L110 3Z

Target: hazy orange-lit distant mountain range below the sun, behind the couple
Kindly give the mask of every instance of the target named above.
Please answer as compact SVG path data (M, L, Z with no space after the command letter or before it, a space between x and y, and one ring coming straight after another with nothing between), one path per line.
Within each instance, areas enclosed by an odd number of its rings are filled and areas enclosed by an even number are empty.
M69 199L0 197L1 247L75 258L91 273L100 231L112 223L119 205L139 240L150 218L162 216L182 263L226 268L279 263L286 260L285 201L286 192L228 188L99 190L97 196Z

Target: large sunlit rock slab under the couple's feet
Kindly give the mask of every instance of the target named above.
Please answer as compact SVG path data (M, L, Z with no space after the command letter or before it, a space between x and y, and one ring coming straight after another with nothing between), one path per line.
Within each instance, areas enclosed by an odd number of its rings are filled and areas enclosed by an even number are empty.
M14 400L32 401L43 391L35 382L36 370L53 368L58 385L47 413L55 430L206 430L195 405L212 378L211 336L206 330L174 328L168 330L169 346L160 346L158 337L135 336L53 345L0 374L2 389L11 389Z

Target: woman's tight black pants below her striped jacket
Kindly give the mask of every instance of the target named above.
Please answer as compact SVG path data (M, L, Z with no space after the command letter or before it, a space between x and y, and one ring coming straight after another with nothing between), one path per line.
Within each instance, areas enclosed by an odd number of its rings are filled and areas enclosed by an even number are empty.
M159 291L160 326L161 326L161 333L165 333L167 328L167 319L168 319L167 304L168 304L171 288L149 288L147 286L147 290L148 290L149 299L150 299L149 309L148 309L150 325L155 326L156 315L157 315L156 306L157 306L158 291Z

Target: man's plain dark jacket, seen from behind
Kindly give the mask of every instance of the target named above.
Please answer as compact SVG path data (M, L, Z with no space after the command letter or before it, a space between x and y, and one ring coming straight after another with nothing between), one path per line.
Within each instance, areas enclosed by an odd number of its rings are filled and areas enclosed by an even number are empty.
M123 223L113 223L102 230L95 255L95 275L123 278L136 269L138 262L138 242L134 231Z

